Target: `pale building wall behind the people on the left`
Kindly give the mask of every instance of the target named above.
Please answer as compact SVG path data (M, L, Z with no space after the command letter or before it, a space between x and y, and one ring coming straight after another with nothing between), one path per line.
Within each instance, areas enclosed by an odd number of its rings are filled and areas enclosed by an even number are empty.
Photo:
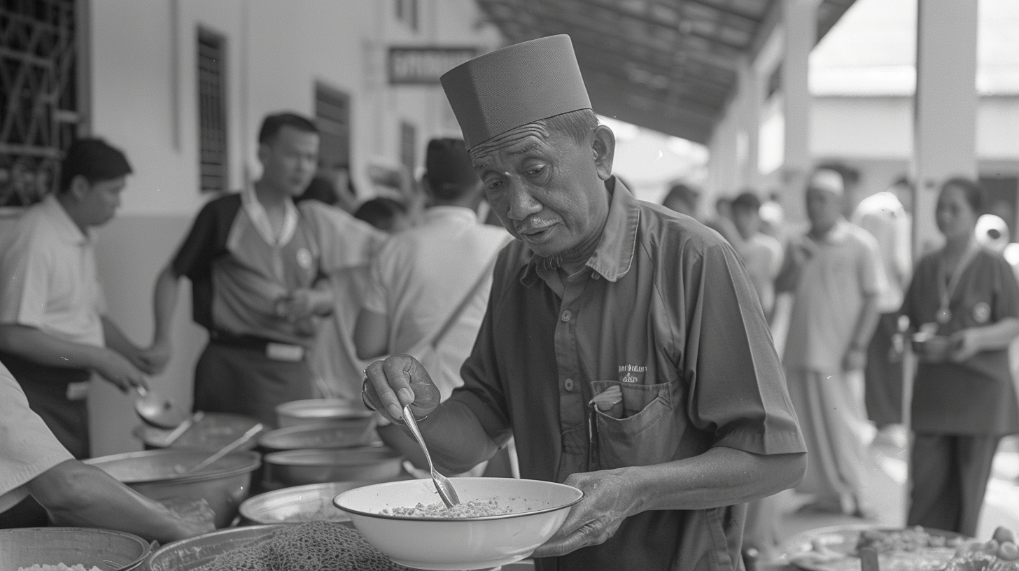
M418 129L418 161L427 140L459 135L441 88L388 86L389 45L500 46L478 25L473 0L422 0L417 32L396 21L391 0L91 0L91 109L94 135L128 155L118 217L100 231L99 266L110 315L136 342L152 334L153 281L208 199L199 191L196 42L201 25L226 39L229 185L257 177L257 129L269 112L314 112L315 82L351 96L352 167L368 189L370 162L399 160L399 122ZM183 407L205 333L191 323L181 294L177 352L152 379ZM130 401L106 383L91 399L94 454L138 450Z

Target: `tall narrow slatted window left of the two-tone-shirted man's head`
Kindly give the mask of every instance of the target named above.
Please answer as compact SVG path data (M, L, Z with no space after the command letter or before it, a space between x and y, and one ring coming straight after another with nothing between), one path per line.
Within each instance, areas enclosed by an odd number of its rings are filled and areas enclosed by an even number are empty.
M199 180L202 192L223 192L226 164L226 39L198 31Z

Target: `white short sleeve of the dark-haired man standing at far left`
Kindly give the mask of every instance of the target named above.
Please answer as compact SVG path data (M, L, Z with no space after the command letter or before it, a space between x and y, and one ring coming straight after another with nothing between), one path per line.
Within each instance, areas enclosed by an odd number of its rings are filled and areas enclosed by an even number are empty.
M50 291L52 256L46 237L37 237L35 226L22 223L11 233L0 253L0 323L41 327Z

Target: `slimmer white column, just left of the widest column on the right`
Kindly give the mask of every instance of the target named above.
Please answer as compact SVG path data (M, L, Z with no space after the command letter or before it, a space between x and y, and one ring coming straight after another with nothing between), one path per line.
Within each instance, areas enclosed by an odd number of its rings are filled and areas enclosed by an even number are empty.
M948 0L951 1L951 0ZM785 121L782 165L783 206L792 220L806 217L804 186L813 168L810 154L810 51L817 43L819 0L783 0L785 33L781 84Z

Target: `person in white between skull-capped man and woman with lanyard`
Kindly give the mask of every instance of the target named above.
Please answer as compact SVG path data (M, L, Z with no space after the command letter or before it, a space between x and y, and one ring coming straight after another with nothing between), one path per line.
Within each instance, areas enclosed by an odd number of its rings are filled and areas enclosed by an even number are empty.
M899 308L913 271L913 186L899 178L887 191L856 206L852 221L877 241L886 280L877 296L880 318L867 346L863 372L867 416L877 427L875 442L905 448L903 426L903 338Z

